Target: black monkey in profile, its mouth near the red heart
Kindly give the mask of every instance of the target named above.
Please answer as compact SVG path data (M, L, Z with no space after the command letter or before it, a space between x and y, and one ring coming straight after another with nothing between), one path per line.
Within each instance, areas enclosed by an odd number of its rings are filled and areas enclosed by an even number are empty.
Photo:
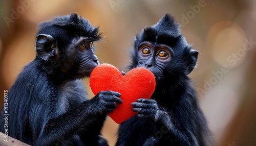
M9 136L32 145L108 145L100 131L120 94L102 91L88 100L82 82L99 65L93 42L100 38L76 13L40 23L36 58L9 92ZM4 110L1 125L3 117Z

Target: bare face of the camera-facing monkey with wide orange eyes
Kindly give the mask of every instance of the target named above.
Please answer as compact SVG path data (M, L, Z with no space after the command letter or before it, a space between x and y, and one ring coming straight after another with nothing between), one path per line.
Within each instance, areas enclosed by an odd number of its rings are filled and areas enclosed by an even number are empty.
M156 80L163 78L164 72L168 69L168 64L172 61L174 52L172 48L165 44L153 44L144 41L138 48L138 65L153 72Z

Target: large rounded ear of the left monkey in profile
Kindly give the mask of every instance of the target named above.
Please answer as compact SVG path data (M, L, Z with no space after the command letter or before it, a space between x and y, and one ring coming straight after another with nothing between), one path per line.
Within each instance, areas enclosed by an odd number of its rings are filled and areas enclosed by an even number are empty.
M37 35L35 47L38 57L44 60L48 60L49 57L54 56L55 48L53 46L54 38L51 35Z

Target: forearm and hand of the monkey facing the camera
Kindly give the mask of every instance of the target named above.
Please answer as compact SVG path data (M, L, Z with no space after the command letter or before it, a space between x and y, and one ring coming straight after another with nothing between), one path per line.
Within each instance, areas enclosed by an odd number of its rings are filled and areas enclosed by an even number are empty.
M132 103L132 106L133 111L138 112L138 117L153 120L163 135L176 137L175 139L182 145L198 145L196 136L187 128L188 126L181 126L174 114L159 106L155 100L139 99ZM146 142L150 143L148 140ZM152 138L153 143L156 143L154 138Z

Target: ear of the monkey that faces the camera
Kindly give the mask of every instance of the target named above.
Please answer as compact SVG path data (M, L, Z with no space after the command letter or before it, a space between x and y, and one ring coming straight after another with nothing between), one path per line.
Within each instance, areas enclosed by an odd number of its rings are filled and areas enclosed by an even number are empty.
M185 71L184 71L185 75L190 74L190 72L195 68L195 66L197 64L198 54L199 54L198 51L190 50L190 52L189 52L189 61L188 61L187 66L185 67Z

